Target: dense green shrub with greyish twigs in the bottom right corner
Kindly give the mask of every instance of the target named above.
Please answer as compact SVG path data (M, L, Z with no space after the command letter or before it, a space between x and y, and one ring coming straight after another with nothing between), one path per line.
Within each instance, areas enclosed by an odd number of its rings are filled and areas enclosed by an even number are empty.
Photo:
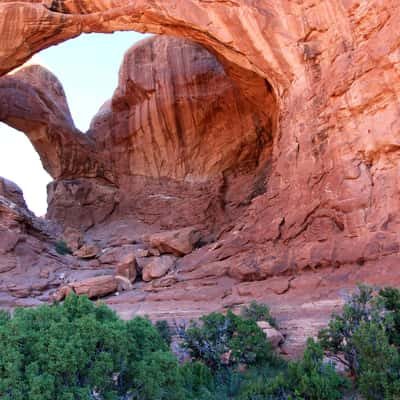
M367 400L400 398L400 291L359 286L319 339Z

